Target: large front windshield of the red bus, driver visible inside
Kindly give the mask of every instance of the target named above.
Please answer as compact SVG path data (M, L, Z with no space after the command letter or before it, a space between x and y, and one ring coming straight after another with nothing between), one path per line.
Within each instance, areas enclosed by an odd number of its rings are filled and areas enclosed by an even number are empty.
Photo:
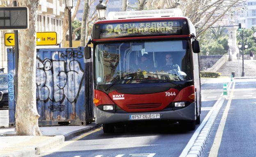
M188 40L118 42L95 46L97 84L177 82L192 79Z

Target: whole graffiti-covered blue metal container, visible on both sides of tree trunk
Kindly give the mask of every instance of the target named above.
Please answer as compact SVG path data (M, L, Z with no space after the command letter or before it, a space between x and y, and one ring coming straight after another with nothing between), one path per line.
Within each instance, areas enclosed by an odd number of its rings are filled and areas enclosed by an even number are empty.
M9 61L13 60L14 53L12 49L9 51L8 74L13 75L14 63ZM91 122L94 118L92 74L92 60L84 58L84 47L37 49L39 126L85 125ZM10 97L9 106L15 108ZM10 116L14 115L11 113Z

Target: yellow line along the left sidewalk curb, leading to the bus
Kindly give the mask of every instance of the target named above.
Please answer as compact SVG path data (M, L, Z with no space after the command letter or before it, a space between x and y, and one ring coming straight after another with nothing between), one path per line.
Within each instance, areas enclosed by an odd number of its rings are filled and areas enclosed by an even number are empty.
M55 148L53 148L52 150L49 150L49 152L40 155L40 157L41 157L41 156L45 156L45 155L49 155L49 154L51 154L51 153L54 153L54 152L56 152L57 150L63 148L64 146L67 146L67 145L69 145L69 144L72 144L73 142L76 142L76 141L78 141L79 139L82 139L82 138L84 138L84 137L86 137L86 136L88 136L88 135L91 135L92 133L96 133L96 132L98 132L98 131L100 131L100 130L102 130L102 127L101 127L101 128L96 128L95 130L91 130L91 131L89 131L88 133L85 133L85 134L83 134L83 135L80 135L79 137L76 137L75 139L72 139L71 141L65 141L63 144L60 144L60 145L56 146Z

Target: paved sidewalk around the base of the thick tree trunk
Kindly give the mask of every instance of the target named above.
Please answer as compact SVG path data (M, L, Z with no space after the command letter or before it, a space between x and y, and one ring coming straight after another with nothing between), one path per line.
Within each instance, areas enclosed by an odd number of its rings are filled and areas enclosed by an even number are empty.
M34 156L97 127L95 123L87 126L44 126L40 127L43 136L15 136L14 128L2 128L0 157Z

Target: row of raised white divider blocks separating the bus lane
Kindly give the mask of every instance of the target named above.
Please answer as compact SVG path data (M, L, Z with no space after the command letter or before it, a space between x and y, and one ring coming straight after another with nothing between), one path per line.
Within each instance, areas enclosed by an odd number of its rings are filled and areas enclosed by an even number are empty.
M228 85L229 87L233 83L230 82ZM227 89L229 89L229 87ZM208 121L203 126L202 130L200 131L199 135L197 136L197 139L195 139L194 144L188 151L187 155L185 157L201 157L201 153L203 152L203 148L206 145L206 142L208 140L208 137L210 136L211 130L215 124L215 121L219 115L219 111L221 110L224 102L226 100L226 97L222 97L219 103L216 106L216 110L213 111L213 113L210 115Z

